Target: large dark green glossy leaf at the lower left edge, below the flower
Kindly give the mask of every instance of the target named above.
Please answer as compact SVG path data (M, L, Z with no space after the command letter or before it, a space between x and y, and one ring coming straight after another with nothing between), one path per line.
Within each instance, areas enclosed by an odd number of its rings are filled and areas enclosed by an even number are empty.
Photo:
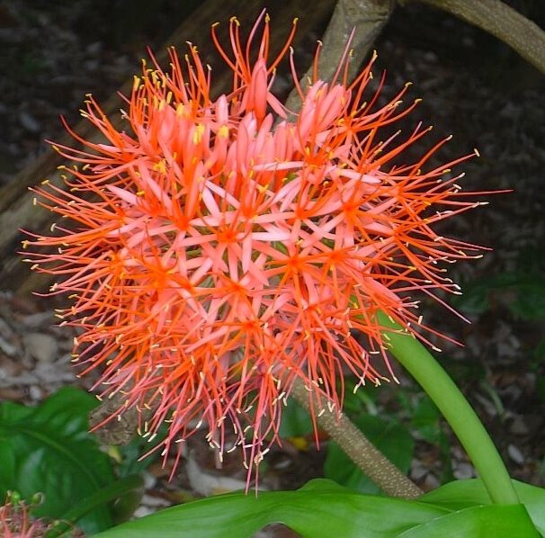
M87 433L87 415L97 403L85 391L67 387L36 408L1 404L0 495L14 489L29 499L40 491L44 502L34 515L58 518L110 485L110 459ZM108 528L111 510L98 507L77 525L86 533Z

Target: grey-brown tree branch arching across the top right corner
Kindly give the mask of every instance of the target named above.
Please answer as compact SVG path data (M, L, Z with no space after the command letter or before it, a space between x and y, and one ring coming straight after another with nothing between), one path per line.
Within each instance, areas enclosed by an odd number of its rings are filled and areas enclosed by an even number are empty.
M545 31L501 0L398 0L422 2L451 13L502 40L545 73Z

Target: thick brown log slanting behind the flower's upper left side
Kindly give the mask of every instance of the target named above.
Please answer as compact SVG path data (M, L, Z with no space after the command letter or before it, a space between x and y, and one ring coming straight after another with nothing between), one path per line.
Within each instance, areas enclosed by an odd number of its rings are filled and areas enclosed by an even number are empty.
M326 25L333 9L335 0L318 0L308 9L308 3L304 0L292 0L289 3L267 3L264 0L247 0L244 3L237 0L207 0L198 9L191 13L174 31L174 34L165 42L165 46L156 51L156 57L160 64L165 65L166 48L175 44L183 49L185 41L192 41L198 46L202 58L210 58L213 52L213 44L210 36L210 26L214 22L220 22L219 37L222 42L228 40L228 21L231 16L237 18L249 29L257 15L267 7L271 15L272 25L272 53L274 48L280 48L287 37L293 19L299 17L299 30L294 46L305 38L311 31L318 32ZM144 46L142 47L144 49ZM138 66L135 66L135 73ZM230 74L219 69L214 70L214 85L220 93L228 88ZM121 94L130 94L132 79L121 86ZM83 95L82 95L83 100ZM103 103L103 111L112 119L116 127L121 128L121 117L118 110L121 100L118 95L113 95ZM93 126L88 121L80 121L74 128L77 133L86 139L94 139ZM75 147L76 142L67 134L56 140L58 144ZM29 291L47 291L48 276L43 273L31 273L27 265L22 264L21 256L17 251L21 247L24 238L21 229L44 232L49 225L56 220L49 211L33 205L34 195L28 192L28 188L40 184L48 179L51 184L62 188L63 184L57 173L57 167L63 164L62 157L53 150L46 150L36 158L29 166L26 166L13 178L10 184L0 189L0 282L2 288L9 288L18 293Z

